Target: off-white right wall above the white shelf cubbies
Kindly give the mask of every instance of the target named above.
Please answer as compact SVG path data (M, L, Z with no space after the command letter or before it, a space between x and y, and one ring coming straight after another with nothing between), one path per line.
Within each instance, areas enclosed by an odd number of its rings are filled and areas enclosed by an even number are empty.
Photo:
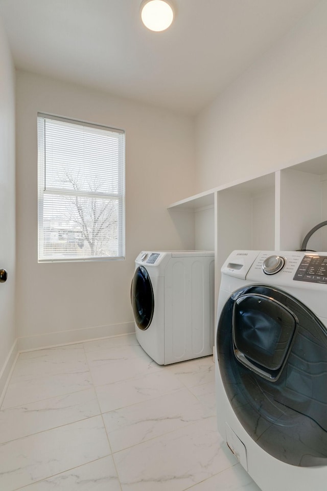
M327 2L197 118L196 192L327 153Z

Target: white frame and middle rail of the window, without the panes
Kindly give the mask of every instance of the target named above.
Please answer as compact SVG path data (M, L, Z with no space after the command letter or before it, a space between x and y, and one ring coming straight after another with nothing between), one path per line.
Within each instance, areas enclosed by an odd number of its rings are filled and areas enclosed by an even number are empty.
M43 120L43 131L40 135L39 124L40 119ZM45 162L45 120L56 120L65 123L71 123L74 125L81 125L91 127L95 129L106 130L109 132L120 133L123 135L123 143L121 148L120 158L123 160L122 164L118 166L118 193L103 193L92 191L75 191L68 190L60 187L46 187L45 175L46 175L46 162ZM42 138L41 138L42 137ZM125 130L120 128L113 128L107 125L91 123L88 121L75 120L73 118L62 117L49 113L38 112L37 113L37 181L38 181L38 262L88 262L88 261L121 261L125 260ZM118 255L117 256L81 256L81 257L44 257L44 227L43 227L43 202L44 194L57 194L68 196L81 196L81 197L94 197L114 199L118 201Z

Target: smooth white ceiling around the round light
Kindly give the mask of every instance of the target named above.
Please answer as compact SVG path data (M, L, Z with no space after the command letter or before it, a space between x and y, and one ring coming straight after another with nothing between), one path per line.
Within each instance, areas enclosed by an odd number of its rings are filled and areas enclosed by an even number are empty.
M18 69L196 114L319 0L174 0L148 31L141 0L0 0Z

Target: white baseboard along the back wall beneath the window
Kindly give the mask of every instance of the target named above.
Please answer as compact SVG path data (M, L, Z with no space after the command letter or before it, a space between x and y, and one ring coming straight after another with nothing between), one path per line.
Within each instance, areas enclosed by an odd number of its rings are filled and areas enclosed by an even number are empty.
M107 326L86 327L85 329L72 329L69 331L49 332L25 336L17 339L18 351L30 351L34 349L53 348L68 344L82 343L99 338L110 338L120 334L131 334L135 332L134 322L123 324L112 324Z

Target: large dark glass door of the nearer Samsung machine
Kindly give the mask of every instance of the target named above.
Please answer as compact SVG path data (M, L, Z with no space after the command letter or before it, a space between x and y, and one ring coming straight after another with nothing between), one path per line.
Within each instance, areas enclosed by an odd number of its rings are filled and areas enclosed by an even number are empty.
M312 311L277 288L242 288L222 310L216 346L250 437L291 465L327 465L327 333Z

